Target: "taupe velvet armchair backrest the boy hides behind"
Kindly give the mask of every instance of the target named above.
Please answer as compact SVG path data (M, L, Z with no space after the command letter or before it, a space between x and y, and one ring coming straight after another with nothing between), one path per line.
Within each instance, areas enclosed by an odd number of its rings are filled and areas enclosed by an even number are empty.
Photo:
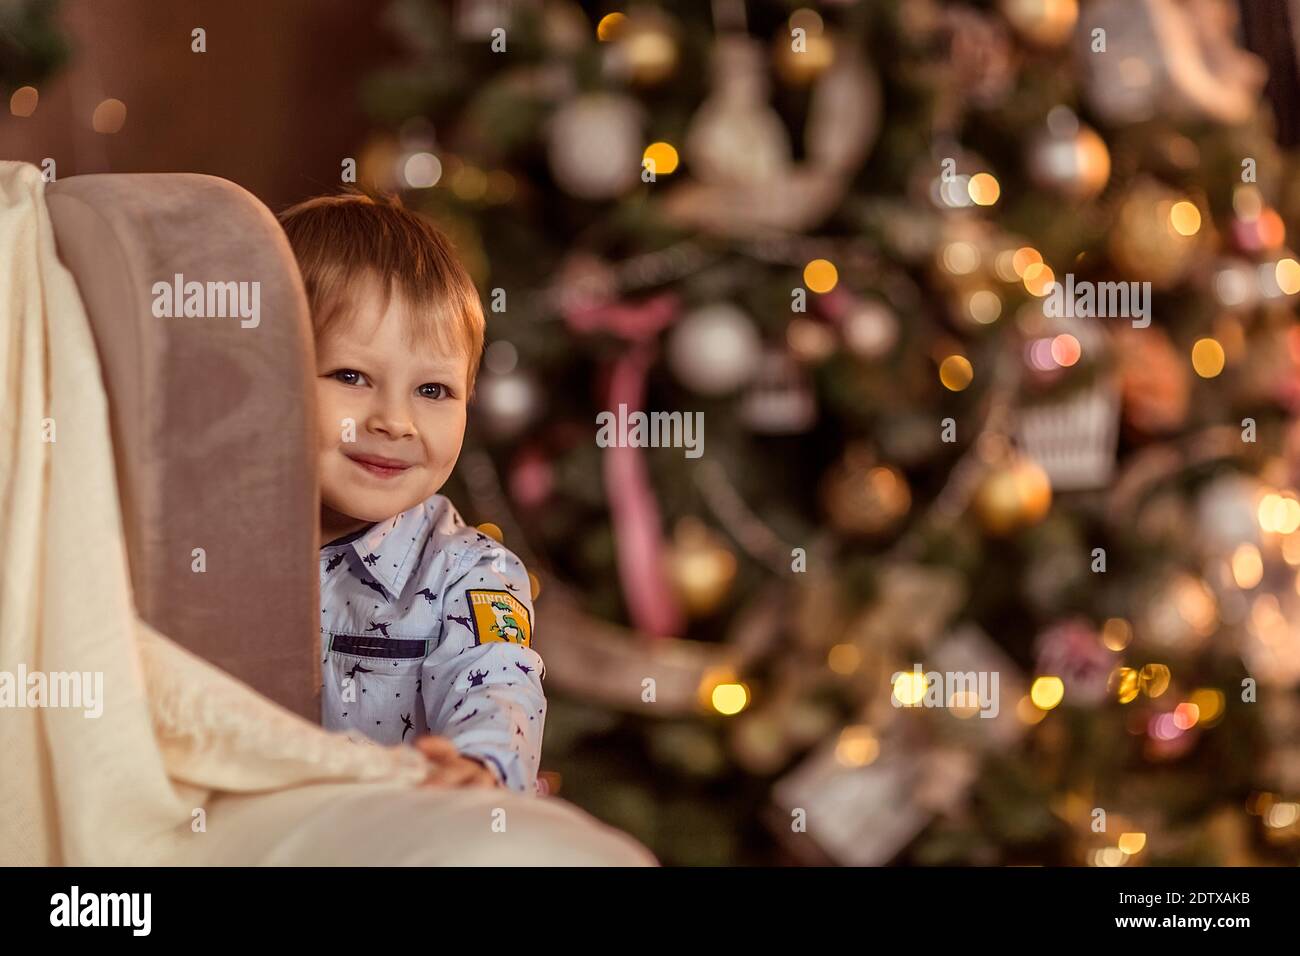
M99 351L138 613L318 721L315 359L283 232L211 176L75 176L47 200Z

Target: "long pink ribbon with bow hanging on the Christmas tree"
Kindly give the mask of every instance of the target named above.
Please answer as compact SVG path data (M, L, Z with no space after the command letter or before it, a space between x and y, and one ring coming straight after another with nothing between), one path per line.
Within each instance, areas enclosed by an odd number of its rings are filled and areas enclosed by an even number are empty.
M564 319L575 332L607 332L630 347L608 369L607 407L618 414L645 405L646 376L654 362L654 337L677 317L677 297L656 295L637 304L586 306ZM619 581L633 626L656 637L680 636L681 607L663 571L663 528L659 503L640 447L604 449L604 490L610 499Z

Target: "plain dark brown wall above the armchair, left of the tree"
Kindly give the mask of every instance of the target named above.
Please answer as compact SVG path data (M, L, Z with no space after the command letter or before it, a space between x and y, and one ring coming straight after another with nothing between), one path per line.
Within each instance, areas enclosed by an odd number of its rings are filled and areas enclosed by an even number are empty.
M64 0L70 62L27 118L0 101L0 159L58 177L192 172L234 179L278 209L339 185L368 124L360 78L391 53L384 0ZM208 52L190 31L208 31ZM126 104L116 134L91 130L100 100Z

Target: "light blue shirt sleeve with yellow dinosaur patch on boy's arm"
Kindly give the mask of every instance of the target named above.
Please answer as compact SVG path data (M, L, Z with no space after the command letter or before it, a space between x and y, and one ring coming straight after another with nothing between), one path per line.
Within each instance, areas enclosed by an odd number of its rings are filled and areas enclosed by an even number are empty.
M482 549L443 592L442 635L421 667L430 732L521 793L537 790L546 721L530 592L515 554Z

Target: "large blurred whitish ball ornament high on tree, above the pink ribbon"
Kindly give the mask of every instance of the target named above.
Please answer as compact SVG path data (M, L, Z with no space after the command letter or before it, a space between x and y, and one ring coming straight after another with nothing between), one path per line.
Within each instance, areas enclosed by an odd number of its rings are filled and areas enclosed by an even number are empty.
M620 94L582 94L547 130L555 182L577 199L614 199L641 182L642 109Z

